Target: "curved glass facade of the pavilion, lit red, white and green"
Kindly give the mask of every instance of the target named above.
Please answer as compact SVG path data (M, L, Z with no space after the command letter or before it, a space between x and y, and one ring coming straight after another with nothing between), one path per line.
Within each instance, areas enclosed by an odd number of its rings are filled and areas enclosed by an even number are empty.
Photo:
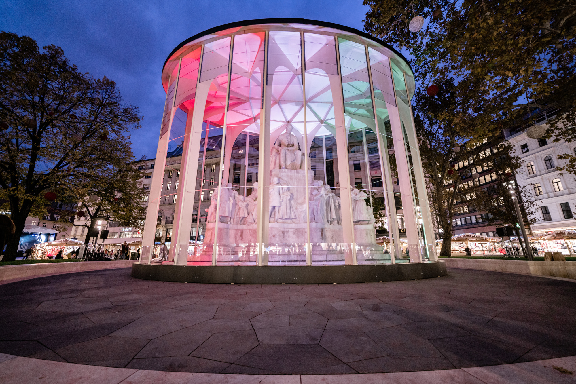
M379 40L345 29L246 25L173 52L156 168L180 146L180 185L162 191L164 174L153 174L143 246L154 243L160 200L172 199L175 264L436 260L413 73Z

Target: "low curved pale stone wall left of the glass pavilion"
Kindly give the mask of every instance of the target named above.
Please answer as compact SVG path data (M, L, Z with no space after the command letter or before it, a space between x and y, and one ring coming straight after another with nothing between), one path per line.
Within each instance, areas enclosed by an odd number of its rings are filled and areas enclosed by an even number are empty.
M132 267L132 264L137 261L138 260L69 261L68 263L3 265L0 267L0 284L47 275L60 275L62 273L95 271L96 269L128 268Z

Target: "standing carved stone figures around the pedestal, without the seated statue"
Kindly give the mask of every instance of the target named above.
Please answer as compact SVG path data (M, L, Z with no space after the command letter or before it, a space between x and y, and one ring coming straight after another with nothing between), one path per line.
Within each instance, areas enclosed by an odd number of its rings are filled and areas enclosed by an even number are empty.
M298 208L295 207L294 194L290 186L279 177L273 177L270 184L269 219L271 223L298 223ZM217 193L211 197L210 207L206 209L209 223L219 222L234 225L252 225L256 223L256 202L258 199L258 183L253 185L254 192L250 196L242 196L232 189L232 184L221 188L221 198ZM342 225L340 197L336 196L329 185L320 180L314 180L309 187L308 203L310 223L326 225ZM218 191L218 189L216 189ZM358 189L352 192L352 208L355 224L374 222L374 216L366 205L367 195ZM218 207L219 204L219 207Z

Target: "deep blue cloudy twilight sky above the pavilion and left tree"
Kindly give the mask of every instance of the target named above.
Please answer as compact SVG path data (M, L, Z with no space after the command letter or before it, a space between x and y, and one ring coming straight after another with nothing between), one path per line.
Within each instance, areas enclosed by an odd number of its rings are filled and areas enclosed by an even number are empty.
M132 134L137 158L156 156L166 94L160 83L166 56L181 41L228 22L302 17L362 30L362 0L2 0L0 29L28 35L40 47L62 47L70 62L118 83L124 100L140 108Z

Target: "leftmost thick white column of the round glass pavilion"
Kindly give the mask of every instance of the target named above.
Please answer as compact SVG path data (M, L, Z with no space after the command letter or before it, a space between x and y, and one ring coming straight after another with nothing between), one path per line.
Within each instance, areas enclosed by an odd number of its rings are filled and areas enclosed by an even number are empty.
M181 61L181 60L180 60ZM178 66L178 73L180 73L180 64ZM170 80L172 76L168 77L168 90L166 91L166 107L168 107L168 97L170 94ZM177 80L176 80L177 81ZM172 104L176 100L176 86L173 90ZM168 142L170 141L170 130L172 129L172 121L174 119L175 108L170 109L170 120L168 122L168 130L158 140L158 148L156 150L156 161L154 161L154 170L152 173L152 180L150 184L150 197L148 199L148 207L146 210L146 221L144 223L144 233L142 234L142 249L145 246L150 247L150 255L148 264L152 263L152 256L154 254L154 237L156 237L156 226L158 220L158 210L160 209L160 194L162 192L162 183L164 183L164 168L166 167L166 155L168 154ZM164 116L166 111L162 113L162 122L160 124L160 132L162 132L162 125L164 124Z

